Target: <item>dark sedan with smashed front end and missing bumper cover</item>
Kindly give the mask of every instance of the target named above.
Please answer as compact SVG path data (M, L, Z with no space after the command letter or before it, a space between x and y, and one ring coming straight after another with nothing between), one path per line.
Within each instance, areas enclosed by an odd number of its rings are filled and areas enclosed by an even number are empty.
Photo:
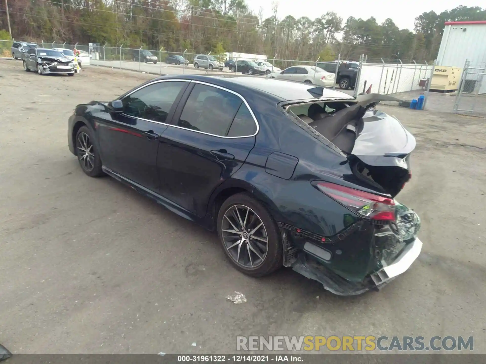
M32 48L22 54L25 71L36 70L39 75L51 73L67 73L74 76L74 63L66 58L60 51Z

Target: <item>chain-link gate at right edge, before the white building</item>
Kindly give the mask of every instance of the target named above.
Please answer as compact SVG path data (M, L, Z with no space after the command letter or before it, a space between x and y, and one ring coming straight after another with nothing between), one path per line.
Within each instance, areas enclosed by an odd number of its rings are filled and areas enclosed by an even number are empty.
M459 92L454 103L456 114L486 117L486 63L466 61Z

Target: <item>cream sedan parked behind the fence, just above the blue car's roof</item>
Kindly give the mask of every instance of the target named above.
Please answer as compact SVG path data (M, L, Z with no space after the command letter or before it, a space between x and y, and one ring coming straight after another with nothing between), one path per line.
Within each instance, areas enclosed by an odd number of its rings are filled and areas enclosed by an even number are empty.
M267 75L269 78L279 80L299 81L313 83L319 86L331 87L334 84L334 73L325 71L315 66L292 66L281 72L274 72Z

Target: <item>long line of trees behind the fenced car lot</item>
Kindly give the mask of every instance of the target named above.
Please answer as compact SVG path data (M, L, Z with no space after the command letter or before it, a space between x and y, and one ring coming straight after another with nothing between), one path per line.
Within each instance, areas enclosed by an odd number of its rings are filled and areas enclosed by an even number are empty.
M255 14L244 0L8 0L12 35L17 40L56 41L169 51L210 50L265 54L279 59L402 62L433 60L445 21L485 20L486 9L458 6L415 19L415 29L399 29L391 18L320 17ZM0 29L7 28L4 1Z

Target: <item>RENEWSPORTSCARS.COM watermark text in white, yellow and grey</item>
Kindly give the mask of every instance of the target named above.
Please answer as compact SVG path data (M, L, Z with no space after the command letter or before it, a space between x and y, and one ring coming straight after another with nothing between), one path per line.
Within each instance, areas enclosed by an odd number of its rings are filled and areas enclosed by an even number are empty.
M237 336L237 351L474 350L473 336Z

